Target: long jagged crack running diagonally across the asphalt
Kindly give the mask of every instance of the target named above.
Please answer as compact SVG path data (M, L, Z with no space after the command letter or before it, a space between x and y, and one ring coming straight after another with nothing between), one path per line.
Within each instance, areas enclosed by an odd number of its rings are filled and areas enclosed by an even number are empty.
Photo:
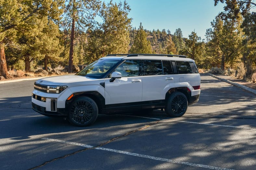
M57 161L57 160L59 160L59 159L66 158L66 157L68 157L68 156L75 155L75 154L77 154L77 153L81 153L81 152L83 152L83 151L87 151L87 150L90 150L90 149L95 149L95 148L101 147L101 146L103 146L103 145L106 145L106 144L108 144L108 143L110 143L110 142L113 142L113 141L115 141L115 140L117 140L117 139L123 138L123 137L125 137L125 136L127 136L127 135L130 135L130 134L132 134L132 133L135 133L135 132L137 132L137 131L147 129L147 128L150 127L151 125L157 124L159 121L160 121L160 120L151 122L151 123L149 123L149 124L147 124L147 125L144 125L142 128L135 129L135 130L130 131L130 132L127 132L127 133L125 133L125 134L123 134L123 135L121 135L121 136L117 136L117 137L111 138L109 141L107 141L107 142L105 142L105 143L101 143L101 144L99 144L98 146L95 146L95 147L92 147L92 148L85 148L85 149L82 149L82 150L79 150L79 151L76 151L76 152L73 152L73 153L70 153L70 154L67 154L67 155L58 157L58 158L54 158L54 159L52 159L52 160L50 160L50 161L46 161L45 163L43 163L43 164L41 164L41 165L38 165L38 166L35 166L35 167L33 167L33 168L29 169L29 170L34 170L34 169L36 169L36 168L43 167L43 166L45 166L46 164L52 163L52 162Z

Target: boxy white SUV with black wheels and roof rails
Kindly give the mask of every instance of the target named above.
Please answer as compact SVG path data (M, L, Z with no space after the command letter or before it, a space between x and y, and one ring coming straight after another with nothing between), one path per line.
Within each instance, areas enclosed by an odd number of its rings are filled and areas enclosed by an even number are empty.
M164 109L180 117L199 95L200 75L195 61L186 56L110 54L75 75L35 81L32 108L87 126L98 114L135 109Z

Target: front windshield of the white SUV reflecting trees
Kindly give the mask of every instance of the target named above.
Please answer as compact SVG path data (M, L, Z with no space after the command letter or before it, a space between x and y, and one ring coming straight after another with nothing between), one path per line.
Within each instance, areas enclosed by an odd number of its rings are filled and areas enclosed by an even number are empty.
M76 75L82 75L91 78L100 78L103 74L109 71L120 60L99 59L89 65Z

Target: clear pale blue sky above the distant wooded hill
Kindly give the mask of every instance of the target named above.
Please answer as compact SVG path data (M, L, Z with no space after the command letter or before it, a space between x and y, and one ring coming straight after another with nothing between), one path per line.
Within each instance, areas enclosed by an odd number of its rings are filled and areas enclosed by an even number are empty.
M110 0L105 0L109 3ZM120 0L113 0L119 3ZM123 2L123 0L121 0ZM131 11L128 17L133 18L132 27L166 31L171 34L181 28L183 37L188 38L195 31L205 39L206 29L211 28L211 21L224 11L224 4L214 6L214 0L126 0Z

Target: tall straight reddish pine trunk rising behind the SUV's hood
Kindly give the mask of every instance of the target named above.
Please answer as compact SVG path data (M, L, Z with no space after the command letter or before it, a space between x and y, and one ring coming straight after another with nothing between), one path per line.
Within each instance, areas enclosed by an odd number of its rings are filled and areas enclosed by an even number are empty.
M69 50L69 73L73 72L73 53L74 53L74 37L75 37L75 0L73 0L73 16L71 25L71 35L70 35L70 50Z

